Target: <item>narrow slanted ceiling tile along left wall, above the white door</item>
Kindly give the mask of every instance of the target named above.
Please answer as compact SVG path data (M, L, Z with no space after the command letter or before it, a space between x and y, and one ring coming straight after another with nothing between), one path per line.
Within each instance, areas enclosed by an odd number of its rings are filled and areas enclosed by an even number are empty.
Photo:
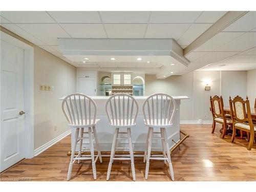
M19 28L15 24L1 24L2 27L8 29L9 31L19 35L20 37L32 42L35 45L46 45L44 42L40 41L39 39L35 38L28 32L24 31L23 29Z

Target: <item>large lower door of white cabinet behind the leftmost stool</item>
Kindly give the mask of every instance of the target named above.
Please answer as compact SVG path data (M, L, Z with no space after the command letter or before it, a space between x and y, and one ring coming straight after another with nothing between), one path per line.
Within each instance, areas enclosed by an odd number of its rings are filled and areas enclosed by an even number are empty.
M78 92L88 96L96 95L95 83L95 78L79 77Z

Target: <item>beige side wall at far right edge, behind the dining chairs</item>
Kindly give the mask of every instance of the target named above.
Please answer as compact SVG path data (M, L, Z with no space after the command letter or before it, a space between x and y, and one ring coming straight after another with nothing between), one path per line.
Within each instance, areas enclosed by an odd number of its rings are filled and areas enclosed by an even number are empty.
M256 98L256 69L247 71L247 95L250 99L250 105L253 107Z

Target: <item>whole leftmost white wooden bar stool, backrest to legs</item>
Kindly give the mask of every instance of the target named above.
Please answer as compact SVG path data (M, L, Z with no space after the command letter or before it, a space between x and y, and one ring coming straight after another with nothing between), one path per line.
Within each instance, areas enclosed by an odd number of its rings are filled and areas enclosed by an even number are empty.
M75 138L72 143L72 153L70 157L70 164L68 170L67 180L70 180L73 163L78 160L78 163L81 160L92 160L92 168L93 168L93 177L96 179L96 166L95 163L99 158L102 163L101 153L99 150L99 143L97 138L97 133L95 126L99 122L100 119L96 119L97 107L96 103L90 97L80 94L74 93L68 95L62 101L62 111L65 114L70 129L75 129ZM87 129L87 130L85 130ZM80 135L78 137L78 135ZM84 136L85 135L85 136ZM93 138L94 137L94 138ZM89 139L90 142L90 152L91 157L82 157L82 141L84 139ZM78 155L75 156L76 145L79 143ZM94 157L94 141L97 147L98 155L96 158Z

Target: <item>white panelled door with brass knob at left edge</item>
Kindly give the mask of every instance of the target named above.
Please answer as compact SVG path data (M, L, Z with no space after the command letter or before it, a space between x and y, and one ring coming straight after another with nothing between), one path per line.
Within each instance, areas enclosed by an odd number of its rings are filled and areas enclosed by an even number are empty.
M1 40L0 65L2 172L25 157L24 50Z

